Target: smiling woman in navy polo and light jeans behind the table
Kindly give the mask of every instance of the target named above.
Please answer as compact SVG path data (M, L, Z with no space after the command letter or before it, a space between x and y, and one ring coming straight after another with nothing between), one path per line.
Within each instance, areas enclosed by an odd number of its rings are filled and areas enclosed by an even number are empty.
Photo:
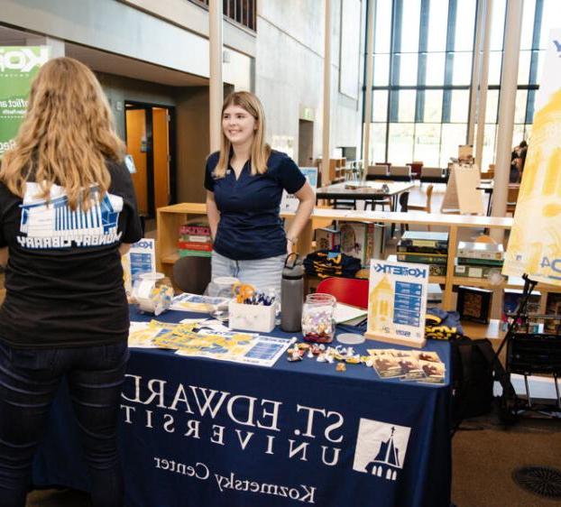
M259 290L281 294L287 250L298 241L316 196L298 166L264 142L262 104L249 92L235 92L222 106L220 152L207 160L207 215L215 239L212 278L235 276ZM282 190L299 198L285 233Z

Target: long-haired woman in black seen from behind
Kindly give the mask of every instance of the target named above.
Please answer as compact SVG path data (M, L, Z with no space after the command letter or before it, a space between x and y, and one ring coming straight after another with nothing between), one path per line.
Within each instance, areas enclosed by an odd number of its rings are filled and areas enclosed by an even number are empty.
M118 402L128 358L121 254L142 237L124 144L85 65L50 60L0 171L0 505L23 507L66 375L96 507L123 505Z

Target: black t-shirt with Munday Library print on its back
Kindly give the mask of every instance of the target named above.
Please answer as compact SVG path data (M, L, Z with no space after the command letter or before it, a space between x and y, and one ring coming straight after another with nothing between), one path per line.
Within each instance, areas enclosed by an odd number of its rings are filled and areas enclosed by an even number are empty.
M49 203L27 183L0 183L0 247L9 247L0 340L14 347L96 346L126 339L129 316L119 244L142 237L124 164L108 162L111 185L72 211L63 188Z

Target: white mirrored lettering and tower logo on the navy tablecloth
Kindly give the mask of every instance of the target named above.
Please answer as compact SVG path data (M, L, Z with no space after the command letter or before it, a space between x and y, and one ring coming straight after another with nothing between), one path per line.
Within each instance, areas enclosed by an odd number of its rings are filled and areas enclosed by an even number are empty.
M196 453L152 456L151 465L159 472L208 481L217 493L253 493L261 497L261 502L274 496L318 504L324 492L315 483L317 477L295 477L281 470L293 471L290 464L298 462L322 474L325 467L346 464L354 472L371 475L372 481L388 484L398 479L405 460L408 427L360 419L357 428L356 418L345 423L344 413L332 408L219 391L202 385L169 383L136 374L127 377L121 402L125 426L141 426L161 436L167 434L169 438L216 446L217 456L235 450L247 454L245 459L249 462L261 455L274 460L271 474L263 480L247 475L240 467L227 468ZM354 457L345 455L346 449L354 449ZM205 454L208 457L216 453Z

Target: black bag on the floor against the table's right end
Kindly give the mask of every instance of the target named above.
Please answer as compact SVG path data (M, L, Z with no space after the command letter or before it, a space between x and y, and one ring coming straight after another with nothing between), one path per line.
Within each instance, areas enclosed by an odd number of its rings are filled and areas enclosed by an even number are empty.
M450 341L452 355L452 423L481 416L492 410L494 351L485 338L467 336ZM495 364L493 364L495 363Z

